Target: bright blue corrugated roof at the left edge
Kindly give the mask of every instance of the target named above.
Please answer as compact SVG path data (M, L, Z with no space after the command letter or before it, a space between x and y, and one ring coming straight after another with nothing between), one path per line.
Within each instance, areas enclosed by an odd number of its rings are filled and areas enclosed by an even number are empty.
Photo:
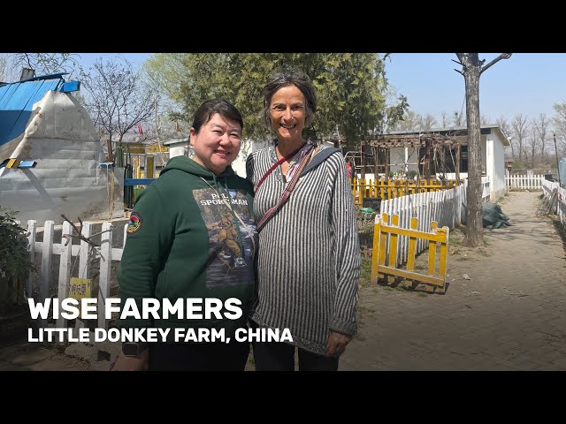
M24 132L34 102L57 90L65 82L63 75L54 73L0 85L0 146Z

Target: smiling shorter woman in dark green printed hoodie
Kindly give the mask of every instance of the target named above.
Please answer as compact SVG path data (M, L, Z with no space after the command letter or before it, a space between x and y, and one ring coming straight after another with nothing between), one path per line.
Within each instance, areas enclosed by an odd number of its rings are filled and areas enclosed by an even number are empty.
M122 306L134 299L142 311L147 298L161 307L165 299L171 304L182 299L182 306L202 299L202 306L192 314L181 307L167 318L160 308L159 319L119 319L121 329L170 331L166 343L124 343L112 369L244 369L249 344L237 342L234 332L246 327L253 298L257 235L253 187L230 166L240 152L242 129L241 113L232 104L204 102L190 129L194 157L173 157L136 201L118 275ZM216 313L206 310L209 301L216 302ZM237 307L230 312L226 305L233 302ZM221 333L223 339L175 343L185 342L176 334L191 332Z

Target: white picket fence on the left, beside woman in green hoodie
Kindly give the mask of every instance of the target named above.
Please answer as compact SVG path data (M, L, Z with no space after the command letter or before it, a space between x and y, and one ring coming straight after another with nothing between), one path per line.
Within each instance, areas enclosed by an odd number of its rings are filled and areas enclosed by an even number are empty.
M84 222L82 226L81 234L85 238L95 236L92 234L92 227L94 223ZM61 232L61 242L54 243L54 230L55 223L53 221L46 221L43 227L43 241L35 241L37 236L38 228L36 226L36 221L27 221L27 249L30 254L31 261L34 261L35 254L42 254L41 261L41 274L40 274L40 290L39 290L39 302L44 302L45 299L50 295L51 289L51 266L53 254L58 254L60 256L59 262L59 274L57 282L57 298L65 299L69 292L69 281L73 274L75 267L77 266L78 260L78 277L79 278L89 278L94 274L94 267L89 267L89 262L96 261L99 259L100 264L100 274L98 279L98 303L96 310L98 311L98 327L107 329L108 322L104 318L104 307L105 301L110 296L111 290L111 261L121 261L122 253L124 251L124 245L126 244L126 227L124 226L124 238L121 241L121 246L113 247L111 246L112 233L114 227L111 223L103 223L101 234L100 246L91 246L86 241L80 240L80 245L73 245L71 241L66 243L67 239L65 234L73 234L73 227L70 223L63 223L63 229ZM65 246L66 244L66 246ZM74 256L74 259L73 259ZM30 274L27 282L27 294L32 295L32 284L34 281L33 274ZM56 327L64 328L66 327L66 320L59 317L57 319ZM78 325L82 325L80 320L77 320ZM45 322L42 320L39 322L40 327L44 326Z

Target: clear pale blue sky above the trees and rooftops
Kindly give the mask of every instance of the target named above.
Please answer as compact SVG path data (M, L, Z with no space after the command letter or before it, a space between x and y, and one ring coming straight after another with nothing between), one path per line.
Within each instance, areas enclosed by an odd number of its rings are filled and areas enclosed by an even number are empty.
M500 53L480 53L486 64ZM84 67L97 57L125 57L135 66L149 53L80 53ZM431 114L441 123L442 112L465 113L464 79L454 69L455 53L392 53L386 78L398 94L406 95L410 109ZM535 118L554 115L553 104L566 102L566 53L514 53L486 70L479 79L479 113L494 124L500 116Z

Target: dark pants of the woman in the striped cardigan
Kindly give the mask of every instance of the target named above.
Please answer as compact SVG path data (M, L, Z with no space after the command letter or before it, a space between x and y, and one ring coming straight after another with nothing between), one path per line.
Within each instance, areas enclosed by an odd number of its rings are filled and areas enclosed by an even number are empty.
M253 342L256 371L294 371L295 346L281 342ZM338 371L338 358L298 349L299 371Z

